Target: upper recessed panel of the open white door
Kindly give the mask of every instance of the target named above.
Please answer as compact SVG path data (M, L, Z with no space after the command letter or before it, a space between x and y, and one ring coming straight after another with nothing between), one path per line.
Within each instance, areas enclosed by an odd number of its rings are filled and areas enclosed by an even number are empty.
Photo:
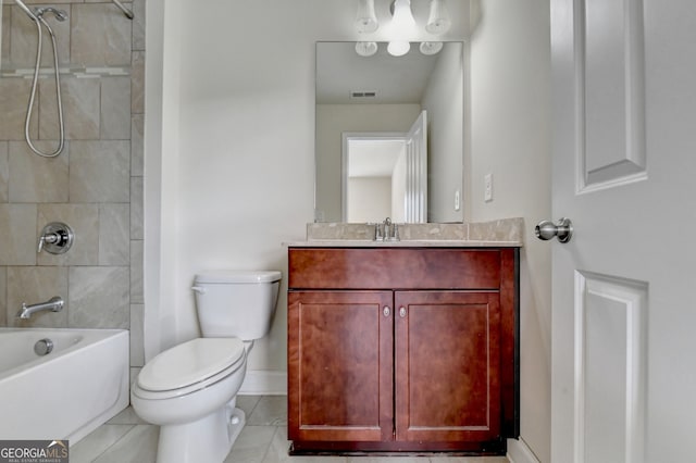
M586 0L575 9L582 192L646 175L644 34L639 1Z

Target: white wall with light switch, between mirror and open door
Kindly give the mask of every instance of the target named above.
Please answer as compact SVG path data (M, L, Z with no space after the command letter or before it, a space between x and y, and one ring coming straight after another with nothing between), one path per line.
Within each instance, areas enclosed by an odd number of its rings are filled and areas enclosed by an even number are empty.
M550 462L550 250L534 225L550 217L550 49L547 0L472 2L468 220L523 216L521 436ZM484 201L484 175L494 200ZM551 217L552 218L552 217Z

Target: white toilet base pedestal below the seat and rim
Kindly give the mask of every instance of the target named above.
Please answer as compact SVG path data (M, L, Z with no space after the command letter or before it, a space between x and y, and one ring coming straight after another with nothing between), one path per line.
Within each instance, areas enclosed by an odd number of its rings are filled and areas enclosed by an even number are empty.
M160 427L157 463L223 462L246 423L234 401L192 423Z

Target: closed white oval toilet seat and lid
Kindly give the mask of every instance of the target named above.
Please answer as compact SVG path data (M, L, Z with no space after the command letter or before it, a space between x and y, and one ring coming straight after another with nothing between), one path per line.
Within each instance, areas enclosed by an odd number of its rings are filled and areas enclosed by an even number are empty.
M138 396L165 399L206 388L235 373L246 362L238 338L197 338L158 354L136 381Z

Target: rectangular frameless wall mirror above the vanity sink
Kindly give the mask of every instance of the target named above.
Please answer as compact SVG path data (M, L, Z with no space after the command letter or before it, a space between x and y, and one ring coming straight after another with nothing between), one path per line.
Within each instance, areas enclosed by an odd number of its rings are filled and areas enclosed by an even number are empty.
M316 43L316 222L381 222L387 215L395 222L463 221L463 61L462 42L445 42L436 54L423 54L420 43L411 43L411 51L398 58L387 53L386 43L378 43L372 57L359 55L355 42ZM407 136L423 111L427 163L419 172L426 190L394 200L395 190L408 187L396 185L390 177L387 180L384 172L389 167L384 165L388 161L382 157L388 154L369 148L361 155L368 161L353 168L347 140L374 138L393 147L384 140ZM377 168L380 165L383 167ZM353 171L363 172L363 178L350 179L348 174ZM364 174L369 171L373 174ZM364 178L369 176L373 178ZM383 177L380 186L376 176ZM406 185L413 182L409 175L401 177L407 178ZM371 189L352 195L351 183L371 184ZM425 202L413 204L414 197ZM421 211L420 216L406 215L409 201L411 209ZM377 204L382 204L380 212L374 212ZM361 211L361 205L372 212ZM385 209L389 207L393 209ZM356 209L358 212L350 212Z

